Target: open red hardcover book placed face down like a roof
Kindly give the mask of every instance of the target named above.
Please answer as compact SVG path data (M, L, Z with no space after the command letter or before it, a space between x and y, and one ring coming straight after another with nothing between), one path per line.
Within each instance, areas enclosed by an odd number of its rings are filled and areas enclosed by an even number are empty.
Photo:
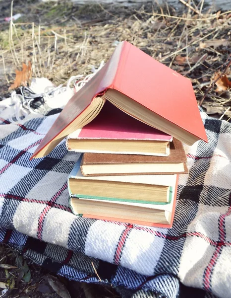
M31 158L45 156L91 122L106 100L185 144L208 142L190 80L124 41L68 101Z

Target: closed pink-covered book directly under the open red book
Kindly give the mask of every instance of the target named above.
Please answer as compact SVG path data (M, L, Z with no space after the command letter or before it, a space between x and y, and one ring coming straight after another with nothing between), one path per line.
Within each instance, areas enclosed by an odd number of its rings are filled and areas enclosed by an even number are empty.
M172 139L107 101L93 121L68 136L66 146L76 152L166 156Z

